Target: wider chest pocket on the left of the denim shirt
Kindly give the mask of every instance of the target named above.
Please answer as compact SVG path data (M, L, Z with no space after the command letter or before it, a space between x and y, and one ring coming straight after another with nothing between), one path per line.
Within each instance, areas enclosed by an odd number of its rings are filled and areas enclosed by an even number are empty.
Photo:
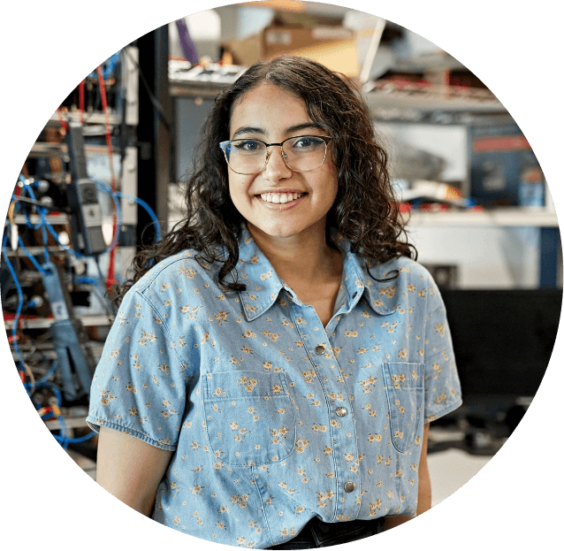
M203 380L215 461L248 466L282 461L292 453L296 426L283 372L225 371Z

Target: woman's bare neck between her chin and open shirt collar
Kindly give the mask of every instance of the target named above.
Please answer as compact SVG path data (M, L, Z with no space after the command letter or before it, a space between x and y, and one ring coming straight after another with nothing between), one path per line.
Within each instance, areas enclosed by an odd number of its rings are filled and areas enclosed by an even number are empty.
M289 237L272 237L248 224L248 231L278 277L290 287L334 277L342 268L340 253L329 246L324 230L309 228Z

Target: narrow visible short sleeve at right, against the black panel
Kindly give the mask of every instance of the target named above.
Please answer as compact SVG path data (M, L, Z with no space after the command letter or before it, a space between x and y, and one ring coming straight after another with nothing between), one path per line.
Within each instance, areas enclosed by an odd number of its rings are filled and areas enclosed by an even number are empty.
M425 323L425 423L461 406L461 382L456 369L445 303L430 276Z

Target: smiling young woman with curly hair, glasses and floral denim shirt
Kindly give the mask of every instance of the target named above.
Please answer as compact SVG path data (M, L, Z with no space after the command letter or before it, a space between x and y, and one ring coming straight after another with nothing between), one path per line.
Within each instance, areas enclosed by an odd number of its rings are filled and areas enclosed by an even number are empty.
M97 482L258 549L430 509L429 423L460 382L354 86L299 57L252 66L217 98L186 201L120 290L88 416Z

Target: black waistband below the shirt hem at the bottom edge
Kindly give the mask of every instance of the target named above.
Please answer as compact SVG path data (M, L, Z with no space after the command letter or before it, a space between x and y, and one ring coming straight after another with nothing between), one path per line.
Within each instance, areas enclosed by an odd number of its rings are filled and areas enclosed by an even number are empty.
M268 549L298 550L331 547L351 541L363 540L384 532L384 517L376 520L352 520L340 523L324 523L312 518L293 540Z

